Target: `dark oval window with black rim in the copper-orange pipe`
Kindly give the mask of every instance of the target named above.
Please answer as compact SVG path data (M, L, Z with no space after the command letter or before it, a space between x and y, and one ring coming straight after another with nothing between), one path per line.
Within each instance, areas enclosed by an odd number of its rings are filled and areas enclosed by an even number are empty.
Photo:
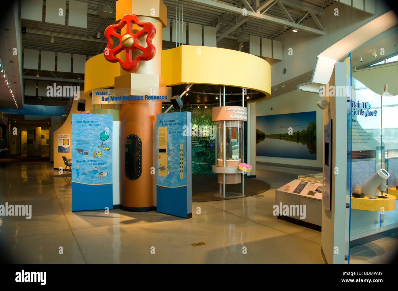
M128 135L125 139L125 175L130 180L141 175L141 139L137 135Z

